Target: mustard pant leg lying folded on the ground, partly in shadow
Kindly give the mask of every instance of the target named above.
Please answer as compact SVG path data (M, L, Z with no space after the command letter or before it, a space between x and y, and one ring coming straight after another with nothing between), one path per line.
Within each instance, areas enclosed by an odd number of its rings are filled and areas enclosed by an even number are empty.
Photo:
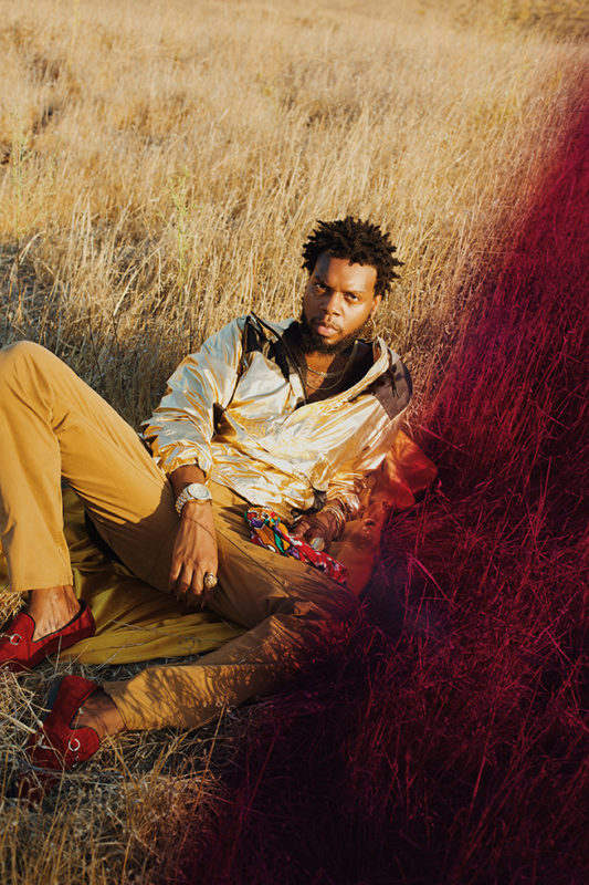
M129 729L196 728L228 705L282 688L302 668L341 650L357 598L317 569L250 540L243 499L213 486L219 584L210 603L250 629L193 664L149 667L105 683Z

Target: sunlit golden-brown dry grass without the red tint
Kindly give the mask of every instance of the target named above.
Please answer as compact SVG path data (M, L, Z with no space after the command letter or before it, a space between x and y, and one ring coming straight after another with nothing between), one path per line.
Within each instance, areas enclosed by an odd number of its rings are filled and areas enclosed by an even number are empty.
M297 313L302 240L353 212L406 262L379 325L425 424L589 70L576 0L437 6L0 0L0 343L137 423L222 323ZM4 778L51 675L2 677ZM113 741L42 811L4 799L1 881L171 879L233 722Z

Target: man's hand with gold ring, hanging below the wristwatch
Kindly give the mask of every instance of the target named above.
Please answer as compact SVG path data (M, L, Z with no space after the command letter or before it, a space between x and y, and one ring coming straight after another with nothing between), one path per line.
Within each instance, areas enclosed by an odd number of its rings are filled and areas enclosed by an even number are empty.
M190 607L203 608L214 593L203 585L204 575L217 576L217 535L209 501L187 501L171 558L170 593Z

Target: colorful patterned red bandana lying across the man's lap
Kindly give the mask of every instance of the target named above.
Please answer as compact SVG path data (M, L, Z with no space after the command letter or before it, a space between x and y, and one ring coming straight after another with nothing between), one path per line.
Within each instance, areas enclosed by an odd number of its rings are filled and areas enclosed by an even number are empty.
M347 568L323 551L314 550L306 541L293 538L288 529L281 522L281 519L273 510L259 510L251 507L245 513L245 519L250 525L252 541L266 550L282 553L283 556L293 556L295 560L306 562L320 569L322 572L336 581L338 584L346 584L348 580Z

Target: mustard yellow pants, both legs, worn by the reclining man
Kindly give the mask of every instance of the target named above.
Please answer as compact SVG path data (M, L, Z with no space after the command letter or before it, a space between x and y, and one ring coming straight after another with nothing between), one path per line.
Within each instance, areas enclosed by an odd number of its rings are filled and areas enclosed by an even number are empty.
M64 363L38 344L12 344L0 351L0 537L17 591L72 583L62 478L127 568L167 592L178 529L169 481L133 428ZM341 646L357 617L350 592L254 545L246 507L213 486L219 584L209 607L248 632L197 663L105 683L128 729L194 728L274 691Z

